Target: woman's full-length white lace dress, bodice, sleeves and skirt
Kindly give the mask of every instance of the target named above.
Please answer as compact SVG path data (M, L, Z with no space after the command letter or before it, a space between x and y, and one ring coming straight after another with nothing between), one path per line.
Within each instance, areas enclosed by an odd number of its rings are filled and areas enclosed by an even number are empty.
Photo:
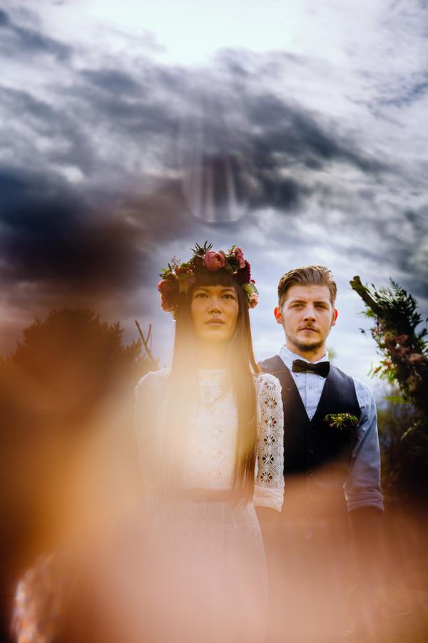
M258 457L253 502L175 498L156 502L170 370L149 373L136 387L136 429L151 524L143 569L145 640L263 642L267 574L255 505L280 511L283 498L283 415L280 383L255 376ZM197 372L184 486L225 492L232 487L238 415L224 370ZM220 496L221 498L221 496Z

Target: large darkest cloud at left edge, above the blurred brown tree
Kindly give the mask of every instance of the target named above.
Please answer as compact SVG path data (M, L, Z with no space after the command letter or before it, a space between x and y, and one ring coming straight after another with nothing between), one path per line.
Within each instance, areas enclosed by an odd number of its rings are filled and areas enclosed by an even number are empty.
M0 193L1 276L9 283L98 293L130 288L141 278L153 236L171 239L185 229L173 185L140 200L121 195L111 211L108 199L97 203L58 177L3 169Z

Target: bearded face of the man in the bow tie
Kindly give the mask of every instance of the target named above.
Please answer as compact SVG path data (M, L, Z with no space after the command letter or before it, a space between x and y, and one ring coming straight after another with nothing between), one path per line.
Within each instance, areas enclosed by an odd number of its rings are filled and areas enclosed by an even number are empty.
M293 352L310 353L325 347L336 317L327 286L291 286L281 308L275 308L275 319Z

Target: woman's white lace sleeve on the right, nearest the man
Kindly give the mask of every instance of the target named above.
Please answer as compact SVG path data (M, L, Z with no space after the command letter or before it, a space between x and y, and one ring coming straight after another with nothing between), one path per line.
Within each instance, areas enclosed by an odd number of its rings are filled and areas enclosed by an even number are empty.
M284 414L280 382L260 374L258 384L258 458L253 502L281 511L284 498Z

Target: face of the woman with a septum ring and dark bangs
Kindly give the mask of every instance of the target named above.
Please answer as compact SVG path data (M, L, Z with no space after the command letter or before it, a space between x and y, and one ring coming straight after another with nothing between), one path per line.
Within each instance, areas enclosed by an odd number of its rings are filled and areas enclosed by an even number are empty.
M238 296L233 286L195 286L190 311L197 337L226 342L238 321Z

